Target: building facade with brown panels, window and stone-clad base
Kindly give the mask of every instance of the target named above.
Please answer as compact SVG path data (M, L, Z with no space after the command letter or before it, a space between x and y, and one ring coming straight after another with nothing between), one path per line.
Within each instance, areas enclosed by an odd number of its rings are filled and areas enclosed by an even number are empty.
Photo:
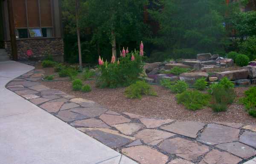
M15 40L17 59L52 55L63 61L60 3L61 0L0 0L0 48L13 57Z

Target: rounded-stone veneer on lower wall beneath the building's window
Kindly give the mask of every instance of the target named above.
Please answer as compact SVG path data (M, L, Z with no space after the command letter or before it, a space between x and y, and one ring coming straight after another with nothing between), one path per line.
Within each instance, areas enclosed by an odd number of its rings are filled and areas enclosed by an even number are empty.
M10 41L5 42L5 48L8 54L12 54ZM63 62L64 42L63 38L34 38L17 40L18 59L26 59L27 50L32 50L32 57L43 59L45 55L50 54L58 61Z

